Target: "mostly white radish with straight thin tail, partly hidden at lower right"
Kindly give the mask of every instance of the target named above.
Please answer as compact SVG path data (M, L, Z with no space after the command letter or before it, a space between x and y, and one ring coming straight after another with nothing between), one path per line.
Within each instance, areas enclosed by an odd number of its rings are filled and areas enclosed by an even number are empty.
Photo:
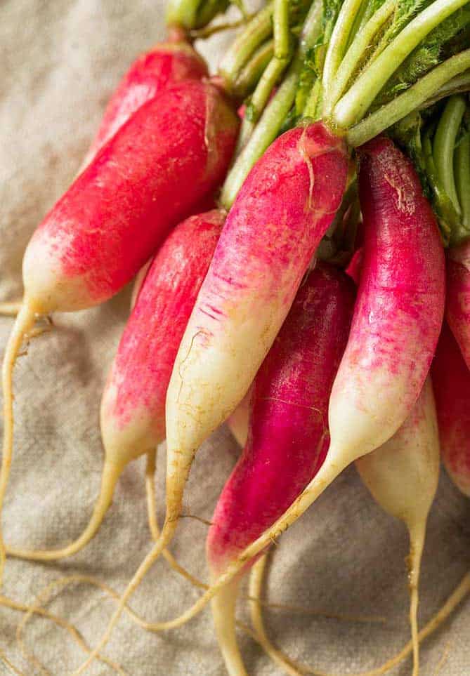
M418 585L426 522L439 478L439 435L431 378L410 416L386 444L363 458L356 467L377 503L400 519L410 534L410 624L414 667L419 673Z

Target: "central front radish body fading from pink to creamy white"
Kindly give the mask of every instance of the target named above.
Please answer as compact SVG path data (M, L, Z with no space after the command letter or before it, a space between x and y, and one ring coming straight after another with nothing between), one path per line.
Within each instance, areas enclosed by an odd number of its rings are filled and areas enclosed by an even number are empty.
M273 344L341 202L347 164L344 143L325 126L295 128L275 140L237 195L169 385L172 516L195 451L240 403Z

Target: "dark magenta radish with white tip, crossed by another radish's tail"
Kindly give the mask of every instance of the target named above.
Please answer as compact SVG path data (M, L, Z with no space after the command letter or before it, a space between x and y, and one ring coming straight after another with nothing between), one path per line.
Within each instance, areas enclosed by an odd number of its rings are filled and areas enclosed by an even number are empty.
M325 459L329 392L353 304L353 283L329 265L318 265L299 289L254 380L247 445L214 512L207 538L213 578L285 512ZM242 673L235 639L237 584L212 602L234 675Z

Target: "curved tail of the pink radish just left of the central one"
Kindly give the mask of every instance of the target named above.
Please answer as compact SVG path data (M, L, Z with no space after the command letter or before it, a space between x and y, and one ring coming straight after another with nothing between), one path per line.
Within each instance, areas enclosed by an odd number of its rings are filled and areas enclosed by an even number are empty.
M81 536L66 547L57 550L25 550L15 547L7 547L6 550L9 555L17 559L30 559L31 561L56 561L57 559L65 559L65 557L77 554L81 549L87 545L91 539L96 535L100 525L103 523L105 514L112 503L112 497L115 493L115 487L119 477L124 468L115 463L105 463L103 467L103 476L101 477L101 489L98 500L93 509L93 515L89 521L86 529L81 533Z

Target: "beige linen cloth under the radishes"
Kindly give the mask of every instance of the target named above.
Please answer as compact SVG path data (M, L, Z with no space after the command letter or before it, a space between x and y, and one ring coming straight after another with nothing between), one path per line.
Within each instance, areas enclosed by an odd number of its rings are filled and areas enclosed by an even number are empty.
M164 36L162 0L2 0L0 2L0 300L20 296L22 251L34 227L65 190L86 152L113 87L131 60ZM214 65L222 41L209 47ZM84 528L98 491L102 450L98 406L105 374L126 320L129 289L86 312L58 314L56 330L34 340L15 369L15 453L4 510L8 543L57 547ZM0 352L11 329L0 320ZM197 456L185 513L210 519L237 449L221 430ZM4 594L31 602L65 574L96 575L117 590L150 546L143 460L124 473L102 529L79 555L57 564L8 560ZM164 449L159 457L162 518ZM429 521L422 569L421 623L469 568L470 503L444 474ZM204 577L206 526L183 519L172 545ZM408 638L403 526L384 515L354 468L339 477L275 550L270 601L386 623L267 612L270 633L290 655L334 674L372 668ZM199 592L159 561L133 596L146 618L171 618ZM112 603L86 585L72 586L51 610L70 618L94 644ZM242 609L241 612L244 612ZM20 615L0 607L0 650L28 676L41 673L15 643ZM44 668L65 675L83 652L48 621L36 618L26 642ZM278 674L252 639L240 635L250 675ZM106 654L133 676L223 675L208 611L181 630L152 635L119 622ZM422 649L422 675L470 674L470 602ZM0 674L10 670L0 662ZM95 663L89 674L111 670ZM410 673L407 661L393 672Z

